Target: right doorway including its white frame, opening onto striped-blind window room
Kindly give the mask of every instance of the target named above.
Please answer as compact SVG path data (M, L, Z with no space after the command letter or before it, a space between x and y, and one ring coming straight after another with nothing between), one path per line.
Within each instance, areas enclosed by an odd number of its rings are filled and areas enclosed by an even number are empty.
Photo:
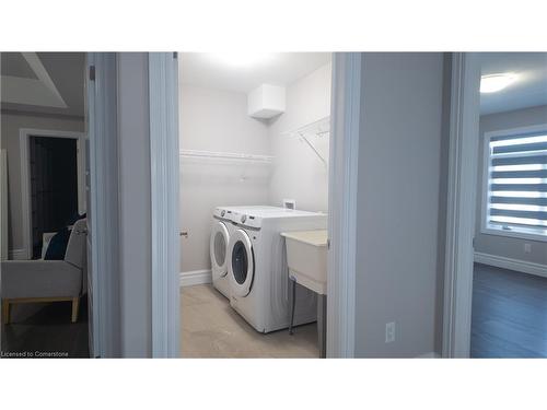
M547 55L454 62L443 355L545 358Z

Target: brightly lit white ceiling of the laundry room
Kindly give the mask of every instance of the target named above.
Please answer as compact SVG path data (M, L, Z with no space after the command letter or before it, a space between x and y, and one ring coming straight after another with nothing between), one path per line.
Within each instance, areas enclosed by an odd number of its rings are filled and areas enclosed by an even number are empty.
M289 85L330 61L330 52L181 52L179 82L247 93L260 84Z

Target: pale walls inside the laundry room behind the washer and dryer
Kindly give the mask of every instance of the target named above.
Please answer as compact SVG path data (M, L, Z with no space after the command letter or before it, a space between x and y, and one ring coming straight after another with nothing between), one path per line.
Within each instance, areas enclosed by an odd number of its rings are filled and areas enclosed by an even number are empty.
M183 72L184 75L184 72ZM287 87L287 112L271 120L247 115L244 93L181 84L181 149L264 154L272 166L183 160L181 166L182 271L210 269L211 213L218 206L274 204L327 211L328 172L304 142L284 131L330 114L330 65ZM328 159L328 138L314 139Z

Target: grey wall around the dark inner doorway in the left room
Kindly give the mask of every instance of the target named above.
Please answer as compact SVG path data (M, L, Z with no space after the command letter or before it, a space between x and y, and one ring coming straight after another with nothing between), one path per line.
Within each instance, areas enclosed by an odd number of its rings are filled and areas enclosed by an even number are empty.
M21 192L21 150L19 130L38 128L57 131L84 131L83 118L2 112L1 148L8 153L8 242L10 250L23 248Z

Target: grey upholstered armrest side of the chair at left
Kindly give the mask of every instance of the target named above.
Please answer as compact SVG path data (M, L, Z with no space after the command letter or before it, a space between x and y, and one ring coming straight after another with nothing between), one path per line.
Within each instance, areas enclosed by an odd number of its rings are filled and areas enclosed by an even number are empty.
M75 297L82 290L81 269L63 260L1 262L2 298Z

